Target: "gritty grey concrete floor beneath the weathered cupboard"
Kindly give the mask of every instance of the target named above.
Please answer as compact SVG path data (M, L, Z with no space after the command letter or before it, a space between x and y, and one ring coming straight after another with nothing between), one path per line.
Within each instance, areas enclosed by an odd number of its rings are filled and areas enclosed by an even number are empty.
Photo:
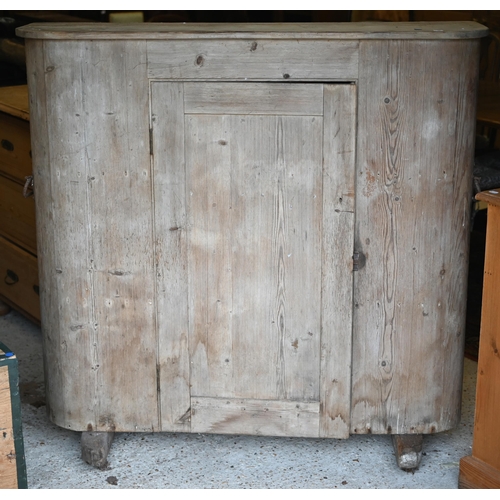
M12 311L0 317L0 341L19 359L29 488L455 489L459 460L471 452L477 363L466 359L462 422L424 437L422 463L413 473L397 467L388 436L168 433L117 434L108 470L96 470L80 459L79 434L56 427L45 414L40 329Z

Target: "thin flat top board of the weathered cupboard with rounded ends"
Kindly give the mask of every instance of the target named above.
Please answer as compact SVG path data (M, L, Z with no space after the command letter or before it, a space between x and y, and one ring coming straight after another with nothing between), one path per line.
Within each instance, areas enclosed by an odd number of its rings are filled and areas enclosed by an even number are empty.
M17 28L18 36L39 39L460 39L481 38L488 29L476 22L411 23L33 23Z

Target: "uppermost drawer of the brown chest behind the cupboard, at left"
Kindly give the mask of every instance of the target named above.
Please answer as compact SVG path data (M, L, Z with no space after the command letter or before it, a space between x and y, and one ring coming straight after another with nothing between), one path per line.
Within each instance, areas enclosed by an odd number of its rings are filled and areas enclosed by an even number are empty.
M0 113L0 172L24 183L31 175L30 124Z

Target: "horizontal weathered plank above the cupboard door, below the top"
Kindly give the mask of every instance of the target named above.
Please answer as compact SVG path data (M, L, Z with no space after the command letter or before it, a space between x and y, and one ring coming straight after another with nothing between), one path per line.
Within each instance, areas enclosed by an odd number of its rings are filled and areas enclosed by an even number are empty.
M172 40L147 47L153 79L349 81L358 76L358 42L351 40Z

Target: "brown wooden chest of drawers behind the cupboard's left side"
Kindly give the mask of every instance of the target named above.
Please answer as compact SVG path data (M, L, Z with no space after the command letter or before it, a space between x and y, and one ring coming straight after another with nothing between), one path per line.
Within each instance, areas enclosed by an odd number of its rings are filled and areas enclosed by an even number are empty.
M0 300L40 322L28 88L0 88ZM29 192L29 191L28 191Z

